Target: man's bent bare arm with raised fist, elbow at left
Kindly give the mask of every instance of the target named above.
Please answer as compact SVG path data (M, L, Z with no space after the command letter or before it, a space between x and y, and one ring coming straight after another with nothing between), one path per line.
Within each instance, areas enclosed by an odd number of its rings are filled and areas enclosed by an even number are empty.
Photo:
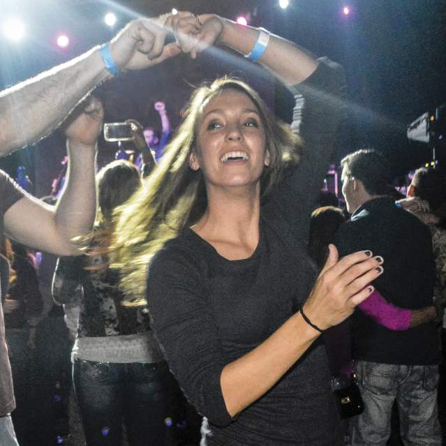
M48 253L81 253L83 242L75 238L91 230L96 214L96 142L102 121L102 105L92 100L68 125L65 132L68 171L57 205L52 207L24 195L6 211L4 223L8 237Z

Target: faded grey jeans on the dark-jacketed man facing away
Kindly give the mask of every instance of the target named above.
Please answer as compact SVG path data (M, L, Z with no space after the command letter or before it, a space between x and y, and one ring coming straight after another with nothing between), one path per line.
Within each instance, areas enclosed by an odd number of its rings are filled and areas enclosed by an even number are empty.
M405 366L357 361L364 412L351 420L351 446L385 446L394 401L406 446L441 446L438 366Z

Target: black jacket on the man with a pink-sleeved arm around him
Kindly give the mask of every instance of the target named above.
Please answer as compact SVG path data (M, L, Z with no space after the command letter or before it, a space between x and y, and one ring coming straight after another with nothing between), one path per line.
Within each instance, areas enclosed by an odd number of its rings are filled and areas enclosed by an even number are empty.
M339 230L339 255L370 249L384 258L384 272L373 285L390 303L416 310L432 305L435 282L431 233L392 198L369 200ZM356 309L352 324L353 358L382 364L437 364L436 327L429 322L392 331Z

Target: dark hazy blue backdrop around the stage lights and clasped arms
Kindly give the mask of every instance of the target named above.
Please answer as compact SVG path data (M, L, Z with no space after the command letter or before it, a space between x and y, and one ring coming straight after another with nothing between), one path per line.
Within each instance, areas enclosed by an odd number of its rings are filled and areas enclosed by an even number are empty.
M345 67L350 112L337 138L334 163L354 149L375 147L390 158L396 176L431 158L425 144L408 142L406 128L420 114L446 102L444 0L290 0L286 10L277 0L3 0L2 4L0 22L15 13L27 22L27 37L18 43L0 38L1 89L110 40L140 14L154 16L172 8L232 19L244 14L253 26L265 27ZM342 14L344 5L350 6L348 17ZM103 22L108 11L118 16L113 28ZM61 32L70 37L65 50L56 45ZM283 87L253 65L212 54L202 54L198 62L181 56L128 73L103 84L96 94L105 103L106 121L135 118L159 127L153 103L165 101L174 127L193 85L225 73L251 82L279 116L290 120L292 102ZM0 166L15 177L17 165L26 165L34 193L46 195L64 150L64 138L56 132L32 149L3 158ZM114 144L101 141L99 163L110 161L115 150ZM438 147L437 154L445 165L446 147Z

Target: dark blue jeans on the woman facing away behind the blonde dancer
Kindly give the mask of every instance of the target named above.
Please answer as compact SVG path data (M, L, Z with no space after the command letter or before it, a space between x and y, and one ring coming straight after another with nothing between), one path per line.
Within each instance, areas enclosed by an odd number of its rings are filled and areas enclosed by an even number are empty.
M114 364L76 359L73 383L87 446L167 444L170 395L177 384L165 362Z

